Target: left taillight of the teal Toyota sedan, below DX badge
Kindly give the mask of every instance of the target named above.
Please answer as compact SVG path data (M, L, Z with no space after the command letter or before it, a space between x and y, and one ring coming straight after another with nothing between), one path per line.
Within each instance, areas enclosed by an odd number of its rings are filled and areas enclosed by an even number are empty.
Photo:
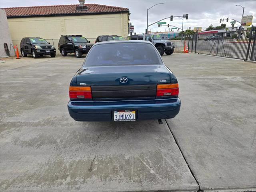
M92 91L91 87L76 87L70 86L69 87L69 98L76 98L76 99L91 99L92 98Z

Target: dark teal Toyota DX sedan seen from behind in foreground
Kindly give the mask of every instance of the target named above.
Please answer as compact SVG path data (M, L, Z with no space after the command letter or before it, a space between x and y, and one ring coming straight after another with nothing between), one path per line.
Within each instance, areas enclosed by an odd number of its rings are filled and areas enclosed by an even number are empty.
M180 111L175 75L148 41L94 44L70 82L68 111L76 121L174 118Z

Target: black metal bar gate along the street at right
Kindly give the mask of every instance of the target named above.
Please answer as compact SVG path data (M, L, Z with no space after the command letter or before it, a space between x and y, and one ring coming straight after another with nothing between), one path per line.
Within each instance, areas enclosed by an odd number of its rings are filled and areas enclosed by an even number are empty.
M256 61L256 27L250 30L226 31L210 36L189 37L189 51L201 54Z

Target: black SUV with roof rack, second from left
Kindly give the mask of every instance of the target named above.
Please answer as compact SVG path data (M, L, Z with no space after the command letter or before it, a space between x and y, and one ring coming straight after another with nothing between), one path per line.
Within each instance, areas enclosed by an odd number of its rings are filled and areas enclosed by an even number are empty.
M90 41L82 35L61 35L58 43L58 49L62 56L74 53L77 58L88 53L92 46L93 44L90 44Z

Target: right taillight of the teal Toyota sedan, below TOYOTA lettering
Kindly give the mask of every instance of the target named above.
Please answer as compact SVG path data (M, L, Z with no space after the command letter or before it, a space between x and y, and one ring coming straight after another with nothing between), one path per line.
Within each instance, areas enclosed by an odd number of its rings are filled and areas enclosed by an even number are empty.
M178 96L179 95L179 84L158 84L156 90L156 96Z

